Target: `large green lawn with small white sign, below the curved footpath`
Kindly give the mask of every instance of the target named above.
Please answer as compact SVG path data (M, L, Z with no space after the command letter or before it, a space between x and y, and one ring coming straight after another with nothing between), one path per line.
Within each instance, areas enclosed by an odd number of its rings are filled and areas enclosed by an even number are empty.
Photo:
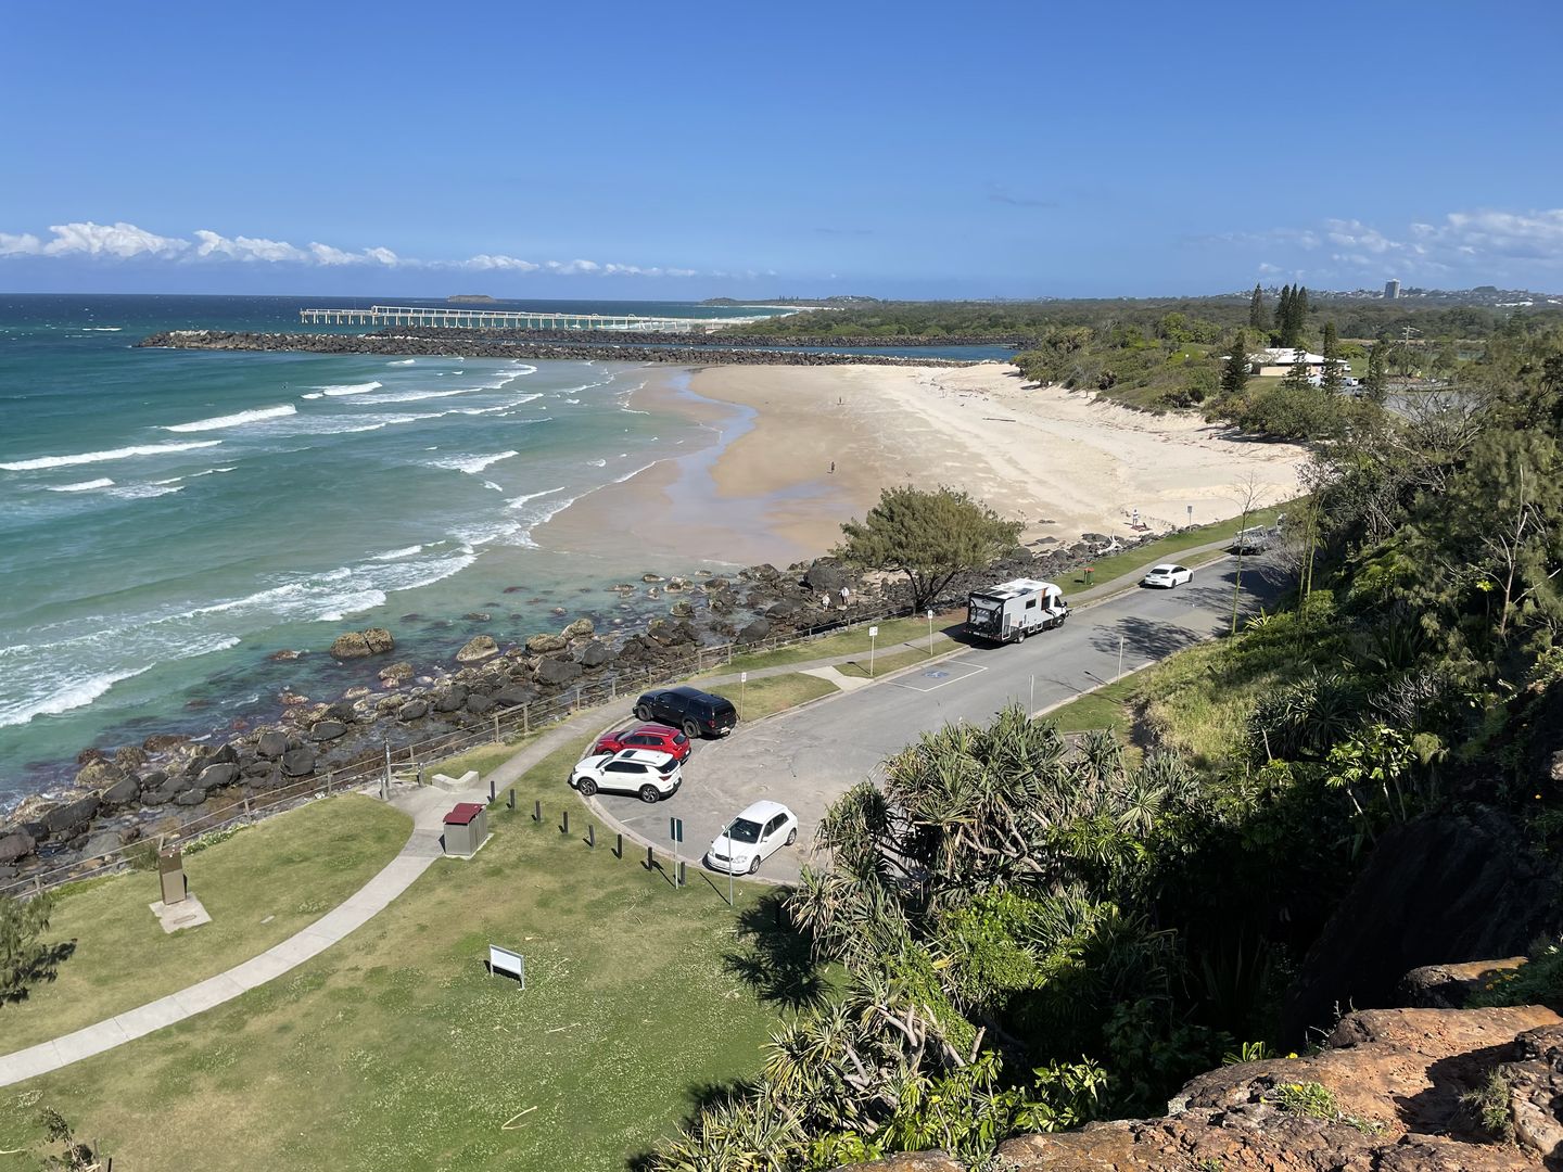
M531 820L567 797L563 745L495 806L494 839L441 859L386 911L225 1006L0 1091L0 1150L36 1144L36 1108L102 1141L116 1167L622 1167L691 1109L697 1088L753 1075L767 1033L819 978L771 925L691 875L674 891ZM566 759L569 758L569 759ZM527 989L485 972L488 944L527 956ZM0 1155L0 1170L36 1156Z

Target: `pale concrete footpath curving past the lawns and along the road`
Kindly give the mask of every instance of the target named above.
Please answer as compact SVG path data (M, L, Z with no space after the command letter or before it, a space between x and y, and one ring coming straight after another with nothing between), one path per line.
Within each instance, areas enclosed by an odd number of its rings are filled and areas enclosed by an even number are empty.
M1218 541L1207 545L1196 545L1188 550L1180 550L1175 556L1189 558L1199 553L1221 550L1227 544L1227 541ZM1166 559L1163 558L1160 561ZM1113 581L1093 586L1091 589L1068 597L1071 597L1072 606L1089 606L1091 603L1103 602L1110 597L1122 594L1127 589L1133 589L1144 572L1155 564L1158 563L1147 561L1144 566L1132 570L1130 573L1119 575ZM907 649L925 649L927 645L927 639L913 639L905 644L882 647L878 649L878 653L892 655ZM953 652L958 649L960 644L952 641L949 636L936 634L936 653ZM877 684L882 680L839 677L839 674L833 669L839 664L858 661L861 658L861 652L821 656L817 659L782 664L777 667L760 667L750 670L749 675L758 680L789 672L811 672L817 675L828 674L827 678L838 683L842 691L855 691L858 688ZM706 677L699 683L717 686L738 683L738 674L733 672L728 675ZM72 1063L78 1063L83 1058L91 1058L106 1050L113 1050L114 1047L123 1045L136 1038L144 1038L145 1034L161 1030L166 1025L173 1025L186 1017L194 1017L199 1013L233 1000L249 989L259 988L291 969L299 967L309 958L325 952L333 944L345 939L356 928L369 922L375 914L397 899L397 895L406 891L419 875L428 870L435 859L442 858L444 852L441 847L441 834L444 830L444 814L452 805L456 802L488 803L489 781L492 781L495 792L505 789L560 745L585 739L600 730L606 722L606 716L608 706L589 708L553 725L489 774L480 789L453 794L433 786L397 786L391 797L391 805L403 809L413 817L413 834L408 838L406 845L402 847L397 856L391 859L391 863L388 863L380 874L349 897L345 903L339 905L333 911L328 911L319 920L306 928L302 928L281 944L267 949L259 956L244 961L244 964L236 964L227 972L208 977L203 981L180 989L178 992L170 992L167 997L159 997L155 1002L128 1009L116 1017L95 1022L94 1025L88 1025L75 1033L64 1034L63 1038L39 1042L38 1045L17 1050L16 1053L0 1055L0 1086L11 1086L13 1083L20 1083L27 1078L58 1070L64 1066L70 1066ZM622 822L614 819L605 809L596 806L596 803L592 805L596 813L599 813L606 822L624 828L628 838L641 842L646 841L633 828L624 827Z

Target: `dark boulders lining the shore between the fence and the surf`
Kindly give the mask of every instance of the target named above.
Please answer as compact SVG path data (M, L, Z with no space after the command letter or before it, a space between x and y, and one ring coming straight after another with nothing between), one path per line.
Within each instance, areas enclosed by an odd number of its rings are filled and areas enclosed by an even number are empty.
M960 575L939 605L964 603L971 589L1007 578L1063 578L1091 556L1086 541L1016 547L985 572ZM842 588L849 592L846 606ZM556 633L477 634L452 649L452 663L444 664L384 663L395 652L391 631L344 631L328 655L341 663L363 661L363 677L339 695L322 700L283 689L277 719L238 734L155 734L139 744L84 749L70 792L27 799L0 825L0 884L91 859L150 833L178 833L181 825L245 799L267 805L280 792L305 791L311 780L336 770L358 769L369 780L388 747L477 731L522 705L538 705L544 719L577 688L589 695L588 689L600 691L611 680L617 692L627 692L710 667L711 658L699 656L702 649L755 645L908 605L899 577L864 577L832 558L786 569L750 566L730 577L649 570L639 581L616 583L606 592L611 606L588 608ZM631 602L661 614L636 628L621 625L624 619L613 609ZM560 616L569 617L563 608ZM291 661L297 653L272 658Z

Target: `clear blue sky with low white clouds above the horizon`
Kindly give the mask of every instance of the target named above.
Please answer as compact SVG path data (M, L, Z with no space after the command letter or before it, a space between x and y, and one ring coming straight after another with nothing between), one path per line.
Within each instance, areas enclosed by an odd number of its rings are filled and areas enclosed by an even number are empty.
M1563 289L1563 5L6 5L0 289Z

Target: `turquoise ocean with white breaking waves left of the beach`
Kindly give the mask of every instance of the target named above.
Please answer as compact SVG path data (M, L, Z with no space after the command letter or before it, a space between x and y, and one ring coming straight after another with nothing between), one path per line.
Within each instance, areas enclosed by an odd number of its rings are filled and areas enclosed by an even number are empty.
M324 655L342 630L449 663L478 631L558 628L560 606L611 622L603 588L653 569L633 542L531 539L711 442L630 406L644 367L134 348L299 330L302 305L341 302L0 295L0 811L84 745L264 717L283 688L334 695L363 675ZM283 649L311 653L267 659Z

